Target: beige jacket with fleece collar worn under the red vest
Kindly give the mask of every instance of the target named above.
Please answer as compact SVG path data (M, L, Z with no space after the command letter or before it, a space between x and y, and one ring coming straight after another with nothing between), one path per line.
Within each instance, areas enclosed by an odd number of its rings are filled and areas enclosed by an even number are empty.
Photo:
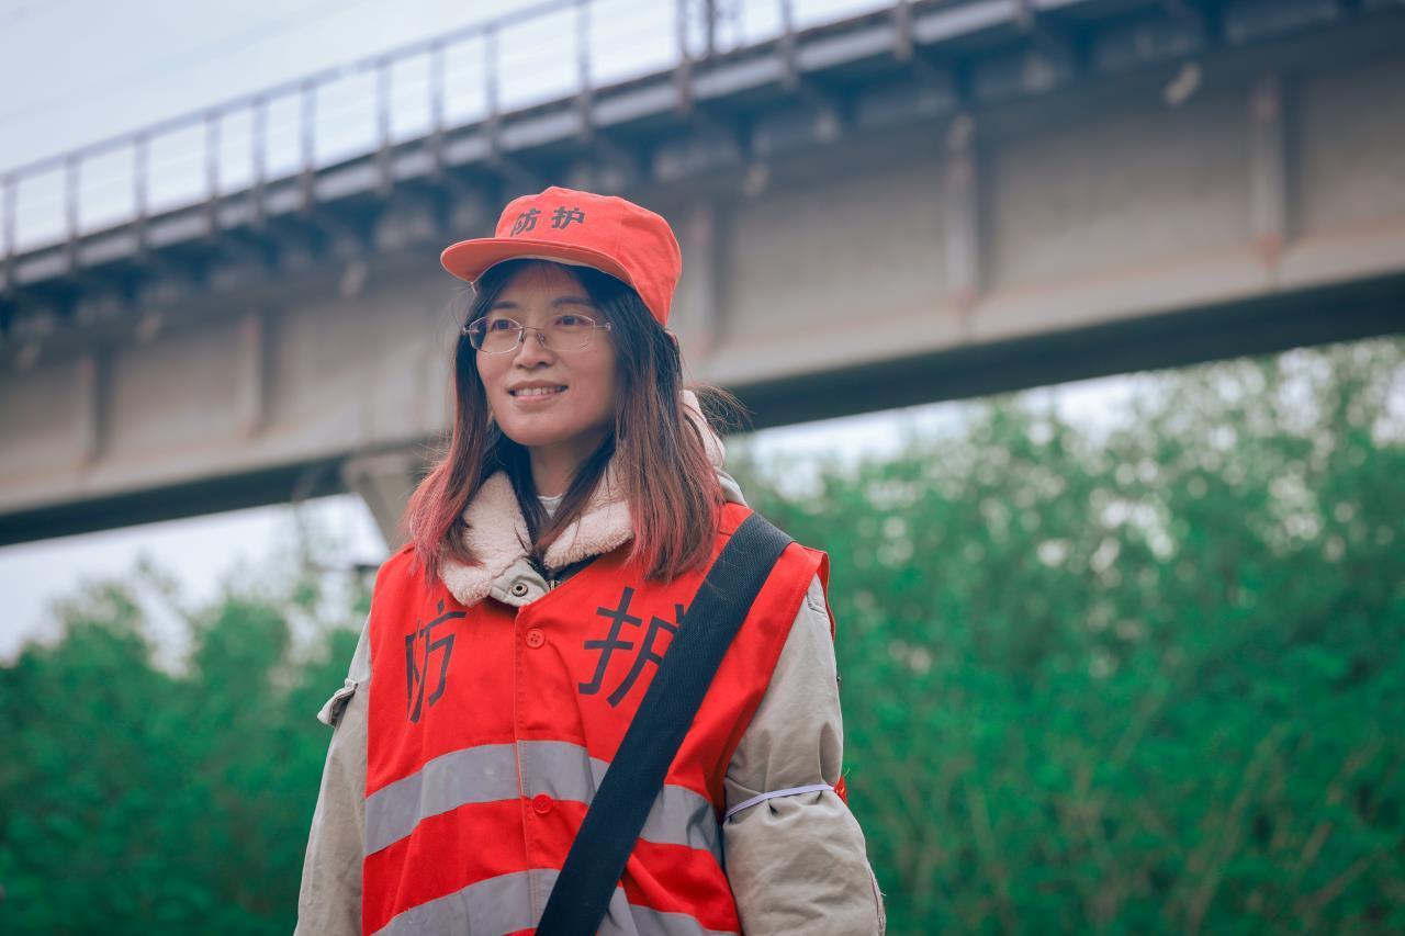
M708 433L710 434L710 433ZM731 500L742 493L722 471L721 441L710 454ZM451 565L444 583L465 604L493 597L520 607L548 583L527 561L517 540L525 523L511 485L490 478L465 513L468 537L481 568ZM613 472L577 524L545 557L559 569L628 541L628 506ZM514 587L516 586L516 587ZM346 684L318 718L333 725L316 812L308 838L298 895L299 936L360 936L361 859L365 822L365 690L371 680L362 630ZM770 687L738 743L725 777L726 807L763 793L808 784L835 784L843 760L843 724L829 614L819 579L805 602L771 675ZM853 814L832 791L764 800L722 825L728 880L746 936L850 936L882 933L878 883L868 866L864 836Z

